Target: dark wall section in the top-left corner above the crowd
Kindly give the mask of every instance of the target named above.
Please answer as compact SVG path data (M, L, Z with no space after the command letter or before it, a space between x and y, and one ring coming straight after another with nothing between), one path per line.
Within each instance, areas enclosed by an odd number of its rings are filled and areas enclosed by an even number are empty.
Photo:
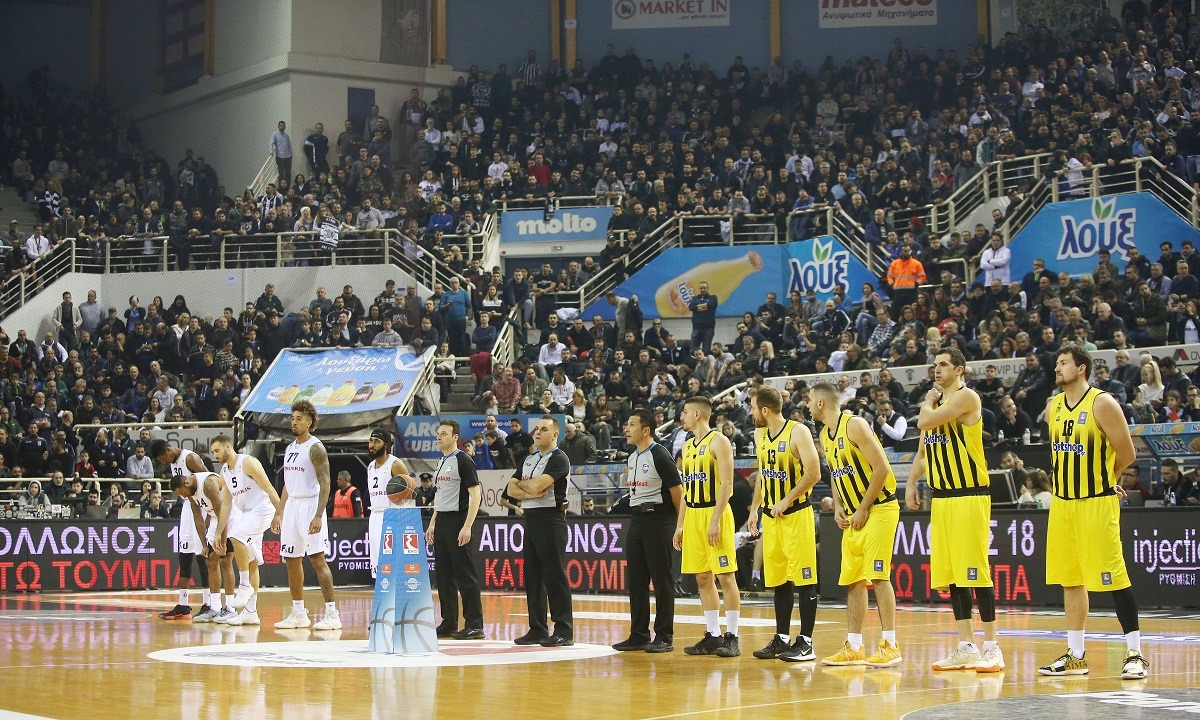
M0 4L0 83L24 91L30 71L48 65L72 90L91 79L91 7L88 4L6 0Z

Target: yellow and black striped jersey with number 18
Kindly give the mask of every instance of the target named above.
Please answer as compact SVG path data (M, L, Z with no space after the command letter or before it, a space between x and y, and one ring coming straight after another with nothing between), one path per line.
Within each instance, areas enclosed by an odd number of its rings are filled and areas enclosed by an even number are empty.
M1076 500L1115 492L1117 454L1096 421L1096 398L1100 395L1100 390L1088 388L1070 407L1062 392L1046 408L1055 497Z

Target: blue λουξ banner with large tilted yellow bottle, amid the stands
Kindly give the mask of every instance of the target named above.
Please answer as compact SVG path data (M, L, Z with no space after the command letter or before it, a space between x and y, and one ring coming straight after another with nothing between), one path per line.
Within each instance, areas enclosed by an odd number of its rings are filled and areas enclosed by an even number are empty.
M680 268L689 268L683 272ZM728 247L673 247L617 287L623 298L637 295L642 313L649 318L688 318L688 302L708 283L716 295L719 317L740 317L757 312L775 293L786 305L792 290L816 290L817 298L833 296L839 284L851 298L862 296L864 282L876 278L835 238L824 235L786 245L739 245ZM613 318L613 307L598 300L583 317Z

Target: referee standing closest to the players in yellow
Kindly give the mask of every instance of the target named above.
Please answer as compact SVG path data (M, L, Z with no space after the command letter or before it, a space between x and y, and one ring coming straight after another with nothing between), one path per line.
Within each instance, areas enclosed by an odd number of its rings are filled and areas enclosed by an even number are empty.
M683 484L671 451L654 442L654 416L635 410L625 421L629 455L629 509L632 521L625 539L625 584L629 586L629 640L616 650L670 653L674 649L674 572L672 538ZM654 580L654 642L650 642L650 580Z

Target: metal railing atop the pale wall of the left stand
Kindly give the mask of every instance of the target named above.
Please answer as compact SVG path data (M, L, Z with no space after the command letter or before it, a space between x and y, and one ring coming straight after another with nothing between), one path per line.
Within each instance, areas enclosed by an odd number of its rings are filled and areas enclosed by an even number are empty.
M462 238L462 236L451 236ZM480 236L480 244L482 236ZM480 245L481 247L481 245ZM230 270L242 268L298 268L308 265L391 264L407 271L427 288L449 286L458 277L468 290L474 286L398 230L343 230L337 250L325 252L316 233L259 235L200 235L172 239L121 236L103 242L67 238L22 271L0 282L0 313L7 317L48 284L67 272L154 272L164 270Z

